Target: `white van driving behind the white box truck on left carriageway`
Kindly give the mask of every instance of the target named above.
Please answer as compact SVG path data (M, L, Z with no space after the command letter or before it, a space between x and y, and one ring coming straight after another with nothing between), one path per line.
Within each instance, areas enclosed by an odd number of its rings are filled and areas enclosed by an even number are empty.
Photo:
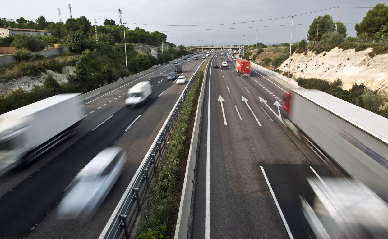
M142 81L128 89L125 98L126 105L142 105L151 96L151 83Z

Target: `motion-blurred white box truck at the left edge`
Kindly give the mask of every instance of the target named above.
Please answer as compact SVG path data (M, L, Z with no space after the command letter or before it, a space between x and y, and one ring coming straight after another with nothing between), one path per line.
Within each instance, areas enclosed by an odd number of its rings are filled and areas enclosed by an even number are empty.
M69 137L83 116L78 95L52 96L0 115L0 174Z

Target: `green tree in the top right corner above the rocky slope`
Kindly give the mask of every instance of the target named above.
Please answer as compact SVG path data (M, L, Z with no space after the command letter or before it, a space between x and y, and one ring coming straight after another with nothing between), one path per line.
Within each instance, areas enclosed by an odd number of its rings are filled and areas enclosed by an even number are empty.
M369 37L377 33L381 26L388 23L388 7L384 3L378 3L373 9L369 10L360 24L356 24L354 29L357 36L361 33L367 33Z

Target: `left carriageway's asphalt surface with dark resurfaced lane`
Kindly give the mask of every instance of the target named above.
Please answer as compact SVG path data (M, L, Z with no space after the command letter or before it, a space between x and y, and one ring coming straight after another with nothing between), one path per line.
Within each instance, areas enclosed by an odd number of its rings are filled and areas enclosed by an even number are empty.
M201 58L182 62L187 81L201 62ZM75 136L47 151L26 169L2 175L0 237L98 238L185 87L167 80L171 71L173 64L166 64L85 101L81 106L85 115ZM151 82L151 98L141 107L126 107L125 93L139 81ZM99 210L84 224L60 220L56 206L64 188L97 153L112 145L122 147L128 160Z

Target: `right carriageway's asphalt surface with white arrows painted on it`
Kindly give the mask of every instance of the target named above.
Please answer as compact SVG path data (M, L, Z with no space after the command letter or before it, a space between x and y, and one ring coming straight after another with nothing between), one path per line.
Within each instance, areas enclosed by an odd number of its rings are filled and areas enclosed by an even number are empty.
M220 52L210 67L191 238L308 238L299 196L306 177L331 173L283 124L286 84L255 68L240 77Z

